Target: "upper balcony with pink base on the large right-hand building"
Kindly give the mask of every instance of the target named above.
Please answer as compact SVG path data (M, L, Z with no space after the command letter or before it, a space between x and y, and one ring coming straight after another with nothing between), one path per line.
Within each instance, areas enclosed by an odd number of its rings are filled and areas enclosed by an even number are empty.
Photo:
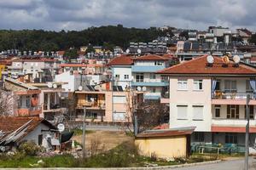
M246 105L247 94L250 95L249 105L256 105L252 92L227 92L216 90L212 93L212 105Z

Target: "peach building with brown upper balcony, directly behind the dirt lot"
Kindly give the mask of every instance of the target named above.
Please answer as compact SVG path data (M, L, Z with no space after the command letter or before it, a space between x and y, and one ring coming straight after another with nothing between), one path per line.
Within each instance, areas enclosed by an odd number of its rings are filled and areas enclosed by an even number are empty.
M88 122L131 122L131 112L143 101L143 95L124 90L110 82L85 86L75 92L77 121L82 121L86 108Z

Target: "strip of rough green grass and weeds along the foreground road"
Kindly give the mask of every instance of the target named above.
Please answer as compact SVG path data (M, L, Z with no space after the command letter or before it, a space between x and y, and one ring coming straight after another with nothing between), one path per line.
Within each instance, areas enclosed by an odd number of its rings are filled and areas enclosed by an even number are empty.
M38 164L39 160L44 163ZM108 150L86 159L75 159L71 155L61 156L15 156L0 155L0 167L144 167L150 164L170 166L199 161L212 161L211 156L195 154L189 159L175 159L175 161L156 160L155 157L139 156L137 146L132 142L119 144L113 150Z

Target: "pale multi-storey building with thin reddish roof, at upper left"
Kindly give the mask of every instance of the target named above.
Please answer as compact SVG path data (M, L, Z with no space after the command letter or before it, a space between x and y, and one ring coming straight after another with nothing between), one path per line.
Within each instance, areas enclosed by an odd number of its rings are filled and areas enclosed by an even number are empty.
M46 58L16 58L8 66L10 77L28 75L31 82L52 82L60 61Z

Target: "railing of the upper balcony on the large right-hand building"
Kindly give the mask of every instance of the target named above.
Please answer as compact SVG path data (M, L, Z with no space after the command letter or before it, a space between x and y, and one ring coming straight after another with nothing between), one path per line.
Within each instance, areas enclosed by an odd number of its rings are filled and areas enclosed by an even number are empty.
M216 90L212 93L212 99L247 99L247 94L251 99L255 99L253 92L236 92Z

